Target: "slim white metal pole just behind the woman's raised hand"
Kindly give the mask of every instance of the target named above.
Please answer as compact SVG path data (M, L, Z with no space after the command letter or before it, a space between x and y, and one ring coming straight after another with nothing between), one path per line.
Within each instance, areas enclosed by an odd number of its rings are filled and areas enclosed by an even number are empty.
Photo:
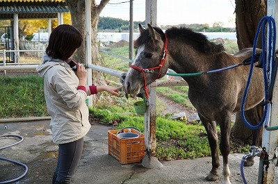
M86 66L92 64L92 46L91 46L91 37L92 37L92 26L91 26L91 1L85 1L85 40L86 40L86 51L85 51L85 64ZM88 79L87 84L92 85L92 69L87 68ZM88 107L92 107L92 97L88 97Z

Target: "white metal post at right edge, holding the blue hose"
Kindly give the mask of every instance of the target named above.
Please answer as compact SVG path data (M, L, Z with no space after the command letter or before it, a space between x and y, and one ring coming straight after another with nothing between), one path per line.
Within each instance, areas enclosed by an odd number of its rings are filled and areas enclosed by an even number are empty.
M275 20L278 19L278 1L269 0L268 1L268 12L267 15L271 16ZM277 24L276 24L277 30ZM268 33L268 36L270 34ZM267 39L268 40L268 39ZM272 40L273 41L273 40ZM268 45L268 44L267 44ZM276 48L277 49L277 40L276 40ZM267 55L269 52L267 51ZM270 125L269 126L277 126L278 125L278 77L275 79L273 94L272 94L272 109L270 115ZM265 149L265 160L261 161L259 165L259 178L258 183L274 183L275 176L275 165L277 162L277 138L278 131L267 131L263 128L263 140L262 147Z

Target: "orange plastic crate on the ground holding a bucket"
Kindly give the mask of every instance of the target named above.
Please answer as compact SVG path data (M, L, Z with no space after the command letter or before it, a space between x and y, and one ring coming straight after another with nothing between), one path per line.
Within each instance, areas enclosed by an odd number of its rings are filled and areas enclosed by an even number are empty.
M119 160L121 164L141 162L145 155L145 135L132 139L117 137L119 130L108 131L108 154ZM131 129L131 132L140 132Z

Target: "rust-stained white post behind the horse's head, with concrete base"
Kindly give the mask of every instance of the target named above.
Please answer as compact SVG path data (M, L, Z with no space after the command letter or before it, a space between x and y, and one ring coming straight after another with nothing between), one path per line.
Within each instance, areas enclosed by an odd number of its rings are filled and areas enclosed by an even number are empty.
M156 26L157 0L146 1L146 24ZM154 157L156 153L156 87L149 88L147 112L145 113L145 146L147 153L142 159L142 166L147 168L163 167L161 162Z

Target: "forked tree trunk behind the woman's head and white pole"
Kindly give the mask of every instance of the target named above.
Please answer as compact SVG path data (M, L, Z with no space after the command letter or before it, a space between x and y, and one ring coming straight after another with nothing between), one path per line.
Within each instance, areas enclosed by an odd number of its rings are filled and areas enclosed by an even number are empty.
M99 22L101 10L104 9L108 1L109 0L101 0L99 5L97 5L95 0L91 0L92 63L95 65L101 65L101 58L97 44L97 24ZM78 28L82 35L84 35L85 39L85 0L65 0L65 3L70 9L70 14L72 15L72 26ZM85 61L85 42L83 42L81 47L78 49L74 58L80 62ZM92 82L97 83L98 85L106 84L104 77L100 72L92 72Z

